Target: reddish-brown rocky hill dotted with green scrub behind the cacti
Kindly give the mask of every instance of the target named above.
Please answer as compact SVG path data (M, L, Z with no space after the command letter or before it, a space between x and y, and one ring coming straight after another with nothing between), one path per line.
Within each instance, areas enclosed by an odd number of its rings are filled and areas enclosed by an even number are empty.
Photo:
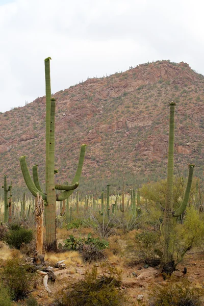
M203 175L204 77L187 63L157 61L106 78L88 79L54 94L56 181L71 181L80 145L87 144L81 190L111 184L138 187L166 176L169 103L176 102L175 173L195 163ZM38 164L44 183L45 96L0 115L0 164L13 184L25 186L19 157Z

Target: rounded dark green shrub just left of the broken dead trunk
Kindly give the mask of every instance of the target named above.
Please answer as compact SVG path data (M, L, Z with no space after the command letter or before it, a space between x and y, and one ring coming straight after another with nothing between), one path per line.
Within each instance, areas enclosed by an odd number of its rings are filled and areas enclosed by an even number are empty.
M27 244L33 239L32 230L19 227L16 230L10 230L5 235L5 241L10 247L20 249L22 244Z

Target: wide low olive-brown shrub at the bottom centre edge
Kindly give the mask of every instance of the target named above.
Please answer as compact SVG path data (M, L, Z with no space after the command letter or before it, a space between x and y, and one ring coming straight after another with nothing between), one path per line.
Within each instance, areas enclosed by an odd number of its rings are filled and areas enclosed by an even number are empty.
M121 271L110 264L101 266L102 276L98 276L97 267L86 272L85 278L78 283L71 284L68 290L62 291L56 299L57 306L120 306L124 295L121 285ZM108 275L108 276L107 276Z

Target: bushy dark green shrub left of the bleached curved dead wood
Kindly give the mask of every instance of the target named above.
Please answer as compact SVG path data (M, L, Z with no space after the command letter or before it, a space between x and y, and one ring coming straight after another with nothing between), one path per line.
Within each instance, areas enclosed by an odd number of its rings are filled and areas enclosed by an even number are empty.
M7 260L3 267L2 281L14 300L23 299L31 292L34 273L27 271L29 267L18 258Z

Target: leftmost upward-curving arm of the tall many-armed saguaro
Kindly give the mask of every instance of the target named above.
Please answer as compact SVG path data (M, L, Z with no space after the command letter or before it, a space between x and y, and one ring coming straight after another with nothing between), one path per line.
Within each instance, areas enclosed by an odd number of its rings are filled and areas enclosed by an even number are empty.
M31 175L29 173L27 162L25 160L25 156L21 156L19 160L20 160L20 167L21 167L22 175L24 177L25 184L27 185L30 192L35 197L37 197L37 193L39 192L39 194L42 196L43 200L46 200L47 196L43 192L39 191L36 188L35 184L33 183L32 179L31 179Z

